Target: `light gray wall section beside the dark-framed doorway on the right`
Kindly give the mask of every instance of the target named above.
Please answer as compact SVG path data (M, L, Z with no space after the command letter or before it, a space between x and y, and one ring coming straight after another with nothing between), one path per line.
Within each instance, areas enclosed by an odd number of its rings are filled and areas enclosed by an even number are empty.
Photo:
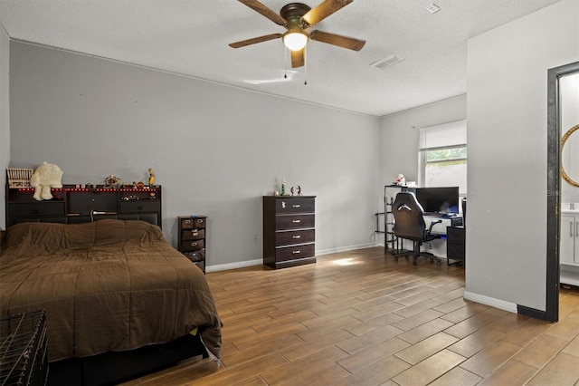
M547 70L579 60L579 1L469 42L465 297L546 310Z

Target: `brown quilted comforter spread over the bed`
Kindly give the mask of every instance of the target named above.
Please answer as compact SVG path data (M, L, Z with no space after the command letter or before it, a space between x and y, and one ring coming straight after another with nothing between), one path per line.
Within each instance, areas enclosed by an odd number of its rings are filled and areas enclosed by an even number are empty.
M40 309L51 362L167 343L195 327L212 357L221 355L221 322L203 272L146 222L10 227L0 316Z

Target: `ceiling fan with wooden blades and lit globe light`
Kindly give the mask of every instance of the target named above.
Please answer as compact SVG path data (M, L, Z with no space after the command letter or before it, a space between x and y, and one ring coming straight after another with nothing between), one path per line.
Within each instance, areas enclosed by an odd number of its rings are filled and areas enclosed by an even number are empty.
M281 38L291 52L291 67L301 67L305 63L305 48L308 40L337 45L354 51L360 51L365 41L352 37L330 34L319 30L311 30L315 25L334 14L341 8L352 3L354 0L324 0L314 8L302 3L289 3L284 5L280 14L271 8L261 4L258 0L239 0L240 3L249 6L252 10L262 14L273 23L283 26L285 34L266 34L240 42L230 43L232 48L240 48L255 43L267 42Z

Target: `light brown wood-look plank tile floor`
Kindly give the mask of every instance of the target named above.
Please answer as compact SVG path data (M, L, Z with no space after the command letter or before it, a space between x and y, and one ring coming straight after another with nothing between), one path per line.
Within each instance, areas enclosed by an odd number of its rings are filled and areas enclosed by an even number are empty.
M546 323L465 301L462 267L394 262L382 247L207 279L222 366L197 358L128 384L579 384L576 288Z

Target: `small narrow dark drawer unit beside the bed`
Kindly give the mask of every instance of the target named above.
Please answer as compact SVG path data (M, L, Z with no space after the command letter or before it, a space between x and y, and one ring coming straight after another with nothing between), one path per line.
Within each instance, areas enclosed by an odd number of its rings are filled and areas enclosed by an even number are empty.
M179 216L178 248L189 260L205 273L206 216Z

